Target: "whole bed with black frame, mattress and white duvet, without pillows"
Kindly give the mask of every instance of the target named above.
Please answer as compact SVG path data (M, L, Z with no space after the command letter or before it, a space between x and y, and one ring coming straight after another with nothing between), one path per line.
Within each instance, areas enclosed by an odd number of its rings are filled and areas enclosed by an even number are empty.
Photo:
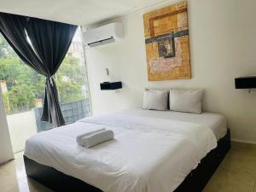
M82 148L75 138L105 127L115 139ZM26 141L26 174L55 191L201 191L230 149L218 113L128 109L81 119Z

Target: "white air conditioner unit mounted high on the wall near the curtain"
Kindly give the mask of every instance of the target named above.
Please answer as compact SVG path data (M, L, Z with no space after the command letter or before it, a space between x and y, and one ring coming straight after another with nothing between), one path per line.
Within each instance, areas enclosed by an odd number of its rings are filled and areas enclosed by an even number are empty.
M109 44L124 36L123 25L119 22L110 23L84 32L85 47Z

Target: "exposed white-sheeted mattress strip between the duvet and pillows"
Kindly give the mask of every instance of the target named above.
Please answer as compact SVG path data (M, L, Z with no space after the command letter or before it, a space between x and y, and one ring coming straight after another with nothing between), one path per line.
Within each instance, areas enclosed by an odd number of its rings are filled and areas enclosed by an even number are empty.
M224 115L220 113L182 113L174 111L156 111L144 110L142 108L131 108L120 111L119 113L141 116L141 117L155 117L159 119L172 119L184 122L190 122L200 125L207 125L212 129L217 140L224 137L227 133L228 123Z

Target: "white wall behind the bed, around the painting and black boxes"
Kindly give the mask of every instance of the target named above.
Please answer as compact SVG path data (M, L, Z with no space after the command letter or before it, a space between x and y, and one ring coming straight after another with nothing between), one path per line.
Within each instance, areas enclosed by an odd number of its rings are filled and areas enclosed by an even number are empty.
M192 79L148 82L143 14L172 3L119 18L124 40L85 50L93 113L141 106L144 87L204 88L204 109L226 115L232 139L256 143L256 92L234 88L236 77L256 74L256 1L190 0ZM101 82L114 80L124 84L119 93L100 90Z

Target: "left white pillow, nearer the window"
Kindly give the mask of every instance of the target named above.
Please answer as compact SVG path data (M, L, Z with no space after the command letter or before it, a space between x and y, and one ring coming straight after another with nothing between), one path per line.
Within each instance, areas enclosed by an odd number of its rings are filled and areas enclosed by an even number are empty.
M143 109L167 110L168 91L145 89L143 98Z

